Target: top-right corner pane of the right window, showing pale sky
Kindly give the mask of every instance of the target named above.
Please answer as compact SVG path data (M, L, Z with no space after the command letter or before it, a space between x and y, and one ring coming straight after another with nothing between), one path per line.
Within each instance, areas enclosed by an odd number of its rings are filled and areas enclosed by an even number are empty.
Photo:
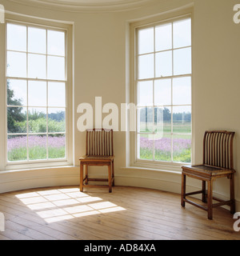
M174 48L191 45L191 19L174 22Z

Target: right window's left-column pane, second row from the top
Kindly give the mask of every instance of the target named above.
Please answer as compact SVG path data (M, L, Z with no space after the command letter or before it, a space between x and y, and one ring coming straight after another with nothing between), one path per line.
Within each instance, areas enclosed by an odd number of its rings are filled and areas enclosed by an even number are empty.
M138 79L154 77L154 54L138 57Z

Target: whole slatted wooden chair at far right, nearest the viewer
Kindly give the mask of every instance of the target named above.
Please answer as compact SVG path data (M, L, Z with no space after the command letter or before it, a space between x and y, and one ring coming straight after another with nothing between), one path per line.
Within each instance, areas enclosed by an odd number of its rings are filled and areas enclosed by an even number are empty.
M233 162L233 138L234 132L226 130L206 131L203 138L203 163L196 166L182 166L182 194L181 204L188 202L194 206L206 210L208 218L213 218L213 207L229 205L230 213L235 212L234 200L234 162ZM202 190L186 193L186 176L202 180ZM213 182L216 178L226 177L230 179L230 200L223 201L213 197ZM206 193L206 182L208 190ZM202 194L202 202L207 206L199 205L186 198L193 194ZM206 200L207 198L207 200ZM213 203L213 199L218 203Z

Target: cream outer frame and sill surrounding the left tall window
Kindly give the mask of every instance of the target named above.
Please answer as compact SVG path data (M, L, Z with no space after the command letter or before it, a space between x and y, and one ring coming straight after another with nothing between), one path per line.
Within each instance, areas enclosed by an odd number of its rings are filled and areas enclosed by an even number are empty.
M66 69L66 80L61 82L66 82L66 158L60 159L42 159L42 160L30 160L30 161L18 161L18 162L8 162L7 160L7 91L6 91L6 24L7 22L25 25L25 26L34 26L37 28L45 28L52 30L61 30L65 31L66 34L66 56L65 56L65 69ZM4 52L2 56L2 62L0 66L4 66L4 71L0 73L0 82L4 85L4 88L1 88L4 91L4 128L0 126L0 136L3 138L3 145L0 146L0 152L2 151L2 157L0 157L0 170L22 170L22 169L31 169L31 168L44 168L44 167L53 167L53 166L71 166L73 165L73 111L72 111L72 88L73 88L73 71L72 71L72 37L73 37L73 28L71 23L66 22L56 22L52 20L40 19L26 17L18 14L6 14L5 24L1 24L0 35L2 36L2 45L0 45L0 54ZM3 78L2 78L3 74ZM29 78L27 78L29 79ZM35 79L29 79L35 80ZM41 79L41 81L47 81L47 79ZM2 86L1 86L2 87ZM2 106L2 105L1 105ZM3 134L3 135L2 135Z

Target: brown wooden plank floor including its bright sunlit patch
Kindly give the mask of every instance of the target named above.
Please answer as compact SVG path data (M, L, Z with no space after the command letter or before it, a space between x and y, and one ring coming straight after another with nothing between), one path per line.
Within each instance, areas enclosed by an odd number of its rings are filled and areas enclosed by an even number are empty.
M23 190L0 194L4 239L64 240L240 240L229 211L206 212L186 204L180 195L159 190L77 186Z

